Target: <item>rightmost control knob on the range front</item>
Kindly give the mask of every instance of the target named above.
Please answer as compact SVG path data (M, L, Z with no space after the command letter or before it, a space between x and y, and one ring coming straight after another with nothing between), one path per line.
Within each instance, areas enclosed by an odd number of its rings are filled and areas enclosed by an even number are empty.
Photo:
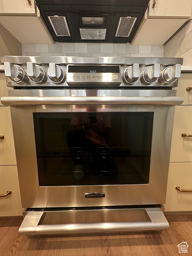
M161 73L161 80L165 83L173 83L177 78L181 76L181 64L169 66L165 68Z

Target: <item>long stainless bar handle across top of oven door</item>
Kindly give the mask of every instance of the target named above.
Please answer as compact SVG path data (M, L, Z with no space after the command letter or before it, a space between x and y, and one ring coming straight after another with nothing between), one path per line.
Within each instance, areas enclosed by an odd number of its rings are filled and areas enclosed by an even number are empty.
M111 97L111 96L86 96L86 97L1 97L5 106L28 106L28 105L155 105L176 106L183 103L183 97L157 96L157 97Z

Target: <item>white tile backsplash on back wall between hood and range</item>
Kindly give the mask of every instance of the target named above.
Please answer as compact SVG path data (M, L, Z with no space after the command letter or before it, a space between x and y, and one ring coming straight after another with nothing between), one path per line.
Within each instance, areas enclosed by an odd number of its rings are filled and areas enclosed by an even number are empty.
M156 57L162 56L163 45L130 45L130 43L60 43L23 44L23 56L72 57Z

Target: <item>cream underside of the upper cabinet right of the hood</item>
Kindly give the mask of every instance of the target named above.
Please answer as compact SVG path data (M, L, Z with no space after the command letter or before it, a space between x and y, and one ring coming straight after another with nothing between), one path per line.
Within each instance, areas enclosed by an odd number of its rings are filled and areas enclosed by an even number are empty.
M144 18L131 44L163 45L186 21L187 19Z

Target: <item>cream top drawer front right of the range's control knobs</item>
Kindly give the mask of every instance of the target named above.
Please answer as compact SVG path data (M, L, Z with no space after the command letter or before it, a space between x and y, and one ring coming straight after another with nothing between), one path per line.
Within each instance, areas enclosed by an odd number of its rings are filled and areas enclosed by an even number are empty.
M174 88L177 90L177 96L184 98L182 105L192 105L192 90L187 91L187 87L192 87L192 74L183 73L179 78L178 87Z

